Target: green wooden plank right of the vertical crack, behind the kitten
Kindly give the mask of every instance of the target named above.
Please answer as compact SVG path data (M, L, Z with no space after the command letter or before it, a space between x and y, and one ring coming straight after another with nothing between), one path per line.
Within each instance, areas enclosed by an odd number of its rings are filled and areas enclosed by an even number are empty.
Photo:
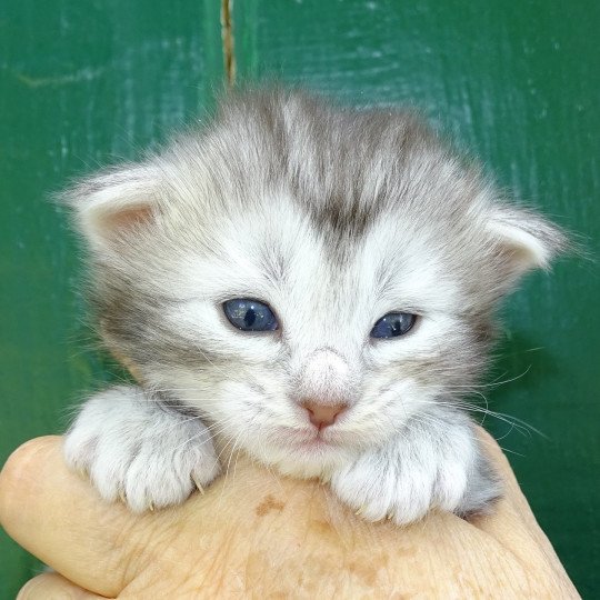
M244 0L234 4L238 79L279 80L359 104L420 108L501 186L600 240L600 10L528 2ZM600 278L566 260L507 304L490 409L548 438L502 438L542 527L583 596L600 589ZM523 456L520 456L523 454ZM594 594L596 592L596 594Z

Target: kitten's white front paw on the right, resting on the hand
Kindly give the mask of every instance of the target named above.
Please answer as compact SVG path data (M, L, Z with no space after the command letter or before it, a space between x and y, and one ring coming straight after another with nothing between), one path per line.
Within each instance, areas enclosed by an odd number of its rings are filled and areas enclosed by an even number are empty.
M369 521L407 524L434 507L460 512L478 452L470 427L440 437L416 424L334 472L331 488Z

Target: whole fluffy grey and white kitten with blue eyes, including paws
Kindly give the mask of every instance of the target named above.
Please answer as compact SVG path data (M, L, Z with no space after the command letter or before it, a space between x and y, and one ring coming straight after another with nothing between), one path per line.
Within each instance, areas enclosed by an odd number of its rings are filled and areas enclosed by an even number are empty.
M66 438L102 498L182 502L221 471L213 439L369 520L499 496L464 391L494 306L564 238L411 114L242 93L66 199L102 339L139 381Z

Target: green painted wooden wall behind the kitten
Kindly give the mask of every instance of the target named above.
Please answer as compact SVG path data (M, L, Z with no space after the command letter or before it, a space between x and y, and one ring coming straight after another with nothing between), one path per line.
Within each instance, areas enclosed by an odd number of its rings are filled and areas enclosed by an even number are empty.
M0 460L62 430L110 379L78 292L78 252L48 198L134 158L210 108L223 68L219 0L0 4ZM600 4L558 0L238 0L238 80L302 83L360 104L419 107L500 184L577 232L600 233ZM229 73L231 74L231 72ZM576 586L600 596L600 279L567 259L504 307L493 410ZM39 568L0 533L0 598Z

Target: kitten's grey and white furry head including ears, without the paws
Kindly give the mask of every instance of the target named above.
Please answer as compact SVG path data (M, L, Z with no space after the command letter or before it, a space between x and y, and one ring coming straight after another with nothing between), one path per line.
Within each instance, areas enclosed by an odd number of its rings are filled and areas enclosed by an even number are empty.
M564 243L412 117L284 92L233 99L210 129L70 200L109 347L227 443L303 477L460 397L494 302ZM266 303L278 329L234 328L232 299ZM390 312L414 326L371 337Z

